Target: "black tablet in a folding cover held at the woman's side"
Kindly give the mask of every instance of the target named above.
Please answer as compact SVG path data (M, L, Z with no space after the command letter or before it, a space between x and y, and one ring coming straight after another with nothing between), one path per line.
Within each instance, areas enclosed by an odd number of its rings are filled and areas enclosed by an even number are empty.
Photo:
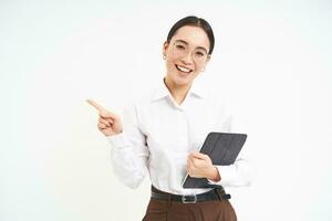
M212 131L206 137L203 147L200 148L200 152L208 155L214 165L231 165L237 159L246 139L246 134ZM206 178L193 178L187 175L183 187L215 188L220 186L209 183Z

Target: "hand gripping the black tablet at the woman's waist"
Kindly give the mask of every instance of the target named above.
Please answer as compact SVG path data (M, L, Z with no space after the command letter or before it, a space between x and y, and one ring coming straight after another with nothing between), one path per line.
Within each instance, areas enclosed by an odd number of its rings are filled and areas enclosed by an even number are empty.
M190 177L220 180L218 169L212 165L209 156L201 152L190 152L187 158L187 172Z

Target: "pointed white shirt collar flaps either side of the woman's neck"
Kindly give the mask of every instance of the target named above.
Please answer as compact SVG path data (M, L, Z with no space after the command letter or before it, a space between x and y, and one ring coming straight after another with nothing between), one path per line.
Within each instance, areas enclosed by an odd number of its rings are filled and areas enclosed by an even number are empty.
M204 85L201 84L201 82L198 78L193 82L187 96L188 95L189 96L195 95L199 98L204 98L206 96L206 88L204 87ZM172 96L172 94L168 91L168 88L166 87L164 78L162 78L162 81L158 81L158 86L152 96L152 101L154 102L154 101L167 97L167 96Z

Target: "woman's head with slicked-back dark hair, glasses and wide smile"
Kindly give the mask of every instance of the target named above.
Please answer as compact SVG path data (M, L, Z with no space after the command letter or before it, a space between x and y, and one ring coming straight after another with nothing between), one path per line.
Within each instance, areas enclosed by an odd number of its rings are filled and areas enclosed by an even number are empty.
M207 65L214 45L214 32L205 20L187 17L174 24L163 48L167 69L166 85L183 87L180 96L184 97L184 92L188 91L194 78ZM183 102L178 97L176 101Z

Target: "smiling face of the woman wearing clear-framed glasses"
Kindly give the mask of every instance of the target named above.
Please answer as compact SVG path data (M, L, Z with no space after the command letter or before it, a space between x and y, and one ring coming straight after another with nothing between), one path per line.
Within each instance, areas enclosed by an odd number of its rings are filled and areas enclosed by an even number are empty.
M190 85L210 59L209 45L209 39L201 28L185 25L178 29L163 48L166 80L176 86Z

